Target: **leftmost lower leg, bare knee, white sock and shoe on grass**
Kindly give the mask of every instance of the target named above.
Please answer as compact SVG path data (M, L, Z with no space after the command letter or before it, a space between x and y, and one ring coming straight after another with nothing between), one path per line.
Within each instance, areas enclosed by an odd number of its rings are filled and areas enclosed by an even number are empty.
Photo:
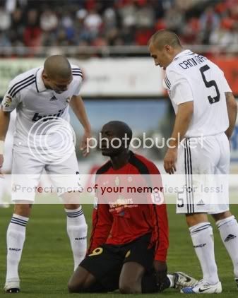
M7 265L6 265L6 292L19 292L20 278L18 266L25 242L25 228L30 217L31 204L21 201L14 207L13 217L6 233Z

